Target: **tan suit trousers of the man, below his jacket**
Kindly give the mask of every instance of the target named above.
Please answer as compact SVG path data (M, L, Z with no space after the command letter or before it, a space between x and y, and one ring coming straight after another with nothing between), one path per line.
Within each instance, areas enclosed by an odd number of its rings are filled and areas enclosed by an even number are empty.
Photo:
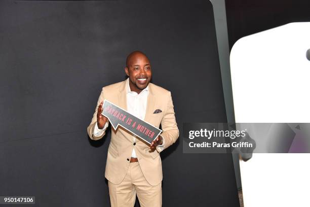
M162 206L162 183L151 186L145 180L139 162L131 162L120 184L108 181L111 207L134 206L136 195L141 207Z

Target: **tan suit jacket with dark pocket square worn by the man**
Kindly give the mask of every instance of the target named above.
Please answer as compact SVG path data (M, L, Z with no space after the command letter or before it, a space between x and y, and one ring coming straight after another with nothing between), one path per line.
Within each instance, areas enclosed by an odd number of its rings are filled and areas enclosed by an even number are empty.
M179 130L175 121L173 103L170 91L149 83L149 94L144 121L159 127L162 125L161 135L165 139L165 148L175 143L179 136ZM92 140L99 140L101 136L94 136L94 127L97 123L97 109L104 99L127 110L126 81L115 83L102 88L97 107L90 125L87 127L88 134ZM161 113L153 114L157 109ZM139 165L146 181L152 185L158 185L163 179L162 160L157 150L149 151L148 144L136 139L133 145L133 134L119 127L117 131L111 130L111 142L108 148L105 178L113 184L120 184L126 176L133 148L139 161Z

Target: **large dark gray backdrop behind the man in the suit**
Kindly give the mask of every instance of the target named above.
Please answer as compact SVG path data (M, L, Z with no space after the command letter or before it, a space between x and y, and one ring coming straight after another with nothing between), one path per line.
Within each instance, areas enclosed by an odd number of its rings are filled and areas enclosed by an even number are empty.
M108 206L110 131L88 138L101 87L142 50L183 122L225 122L209 1L0 3L0 195ZM229 154L162 154L163 206L239 206ZM138 205L138 204L137 204ZM31 205L33 206L33 205Z

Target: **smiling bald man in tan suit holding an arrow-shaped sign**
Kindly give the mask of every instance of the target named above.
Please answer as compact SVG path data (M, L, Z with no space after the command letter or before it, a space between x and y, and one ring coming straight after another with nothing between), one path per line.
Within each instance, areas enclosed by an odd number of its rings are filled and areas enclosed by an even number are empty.
M149 146L124 128L112 130L105 167L111 206L134 206L136 195L142 207L162 206L162 161L159 153L175 143L179 130L170 91L150 83L151 65L140 51L126 59L126 81L102 88L87 128L92 140L105 134L108 120L101 115L103 100L127 110L163 132Z

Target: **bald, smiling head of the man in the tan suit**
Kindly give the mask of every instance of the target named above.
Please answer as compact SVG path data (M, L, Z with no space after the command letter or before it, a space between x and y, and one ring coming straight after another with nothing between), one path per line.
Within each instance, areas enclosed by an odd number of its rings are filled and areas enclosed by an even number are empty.
M129 76L131 91L140 93L151 80L152 72L148 58L142 52L133 52L127 57L125 73Z

